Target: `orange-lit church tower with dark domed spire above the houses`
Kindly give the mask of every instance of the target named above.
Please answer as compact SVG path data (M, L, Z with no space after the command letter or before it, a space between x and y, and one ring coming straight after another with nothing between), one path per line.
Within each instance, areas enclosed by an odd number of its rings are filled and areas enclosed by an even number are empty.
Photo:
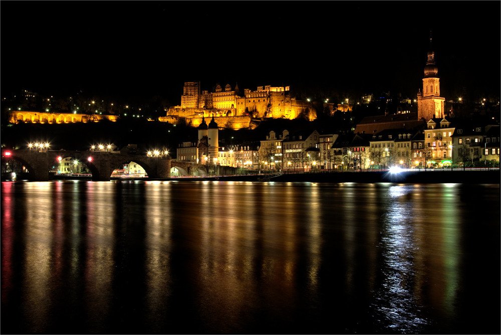
M431 47L428 51L428 60L424 67L423 89L417 94L418 119L429 121L432 118L444 117L445 98L440 97L440 79L437 76L438 68L435 65L435 53Z

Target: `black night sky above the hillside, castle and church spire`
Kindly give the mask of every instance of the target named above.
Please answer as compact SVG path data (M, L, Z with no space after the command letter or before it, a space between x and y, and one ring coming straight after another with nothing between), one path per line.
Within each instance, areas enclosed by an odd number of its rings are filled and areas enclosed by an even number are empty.
M179 104L200 81L414 98L431 30L442 96L499 96L500 4L2 1L1 94Z

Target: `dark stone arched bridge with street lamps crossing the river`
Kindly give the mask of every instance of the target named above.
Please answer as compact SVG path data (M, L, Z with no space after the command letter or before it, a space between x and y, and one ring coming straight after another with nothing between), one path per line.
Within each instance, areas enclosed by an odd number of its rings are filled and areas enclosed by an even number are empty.
M65 151L65 150L12 150L12 159L18 160L28 169L28 179L48 181L49 171L58 164L58 157L71 157L87 166L92 173L92 180L109 181L113 170L123 164L136 162L144 169L148 178L169 178L171 158L127 155L101 151Z

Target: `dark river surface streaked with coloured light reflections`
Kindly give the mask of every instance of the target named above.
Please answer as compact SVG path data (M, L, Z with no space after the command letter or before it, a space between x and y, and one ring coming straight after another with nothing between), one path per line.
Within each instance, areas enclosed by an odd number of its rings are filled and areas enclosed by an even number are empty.
M499 185L3 182L2 333L500 333Z

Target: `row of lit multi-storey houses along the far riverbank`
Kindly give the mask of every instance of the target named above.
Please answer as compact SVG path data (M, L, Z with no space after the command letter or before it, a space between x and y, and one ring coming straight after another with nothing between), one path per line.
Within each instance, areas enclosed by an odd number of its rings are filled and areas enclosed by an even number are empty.
M256 170L347 170L498 166L499 125L430 119L416 128L366 134L271 131L266 139L219 147L217 157L197 158L195 143L182 143L177 159ZM188 154L189 153L189 154ZM200 156L202 157L202 156Z

